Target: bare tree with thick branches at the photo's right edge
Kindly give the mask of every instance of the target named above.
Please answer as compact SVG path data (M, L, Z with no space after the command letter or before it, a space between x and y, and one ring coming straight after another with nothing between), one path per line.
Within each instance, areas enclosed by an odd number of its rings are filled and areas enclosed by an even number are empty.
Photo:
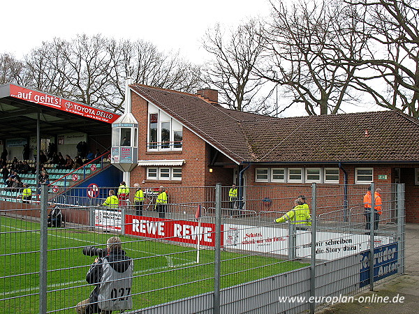
M355 82L378 105L419 118L419 3L417 0L351 0L365 10L369 50ZM355 86L355 85L354 85Z

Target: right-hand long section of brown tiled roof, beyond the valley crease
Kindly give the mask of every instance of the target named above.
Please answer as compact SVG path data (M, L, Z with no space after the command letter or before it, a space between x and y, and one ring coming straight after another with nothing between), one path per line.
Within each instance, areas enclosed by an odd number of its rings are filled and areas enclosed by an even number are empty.
M243 127L257 156L253 161L419 161L419 121L396 111L272 119Z

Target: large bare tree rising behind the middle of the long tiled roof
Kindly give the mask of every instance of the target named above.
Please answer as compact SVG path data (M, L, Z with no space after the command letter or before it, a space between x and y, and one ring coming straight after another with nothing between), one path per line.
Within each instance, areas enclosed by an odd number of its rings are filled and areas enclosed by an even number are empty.
M351 87L357 66L340 60L365 49L359 27L358 12L340 1L272 3L267 66L258 73L286 88L286 108L303 103L309 115L336 114L358 96Z

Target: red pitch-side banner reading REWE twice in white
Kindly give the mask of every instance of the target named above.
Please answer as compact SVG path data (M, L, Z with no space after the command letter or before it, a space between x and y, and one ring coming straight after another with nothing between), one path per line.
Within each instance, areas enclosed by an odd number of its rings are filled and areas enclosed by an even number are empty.
M215 246L215 225L214 223L201 223L198 230L198 223L186 220L167 220L163 218L125 216L125 233L140 237L154 239L166 239L170 241ZM222 237L222 226L221 226ZM221 243L223 240L221 239Z

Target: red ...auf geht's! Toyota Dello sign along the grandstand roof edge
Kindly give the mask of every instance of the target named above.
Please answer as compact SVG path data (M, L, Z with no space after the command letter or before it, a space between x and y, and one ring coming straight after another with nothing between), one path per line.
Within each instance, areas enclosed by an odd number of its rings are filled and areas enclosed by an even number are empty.
M28 100L32 103L38 103L39 105L78 114L82 117L108 122L109 124L112 124L112 122L119 118L119 114L112 114L81 103L75 103L71 100L41 93L40 91L34 91L32 89L25 89L24 87L13 84L10 84L10 96L22 100Z

